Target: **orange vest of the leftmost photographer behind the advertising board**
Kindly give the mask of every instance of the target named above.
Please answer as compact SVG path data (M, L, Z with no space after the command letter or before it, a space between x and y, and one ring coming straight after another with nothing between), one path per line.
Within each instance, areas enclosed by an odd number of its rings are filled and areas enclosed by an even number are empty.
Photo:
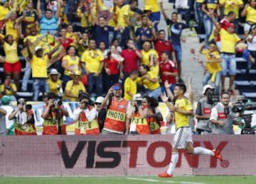
M35 121L33 119L33 111L29 110L28 113L32 116L32 120L27 120L25 124L21 125L21 123L18 122L20 115L14 120L15 127L14 132L15 135L36 135L36 127L34 125ZM28 115L27 113L27 115Z

